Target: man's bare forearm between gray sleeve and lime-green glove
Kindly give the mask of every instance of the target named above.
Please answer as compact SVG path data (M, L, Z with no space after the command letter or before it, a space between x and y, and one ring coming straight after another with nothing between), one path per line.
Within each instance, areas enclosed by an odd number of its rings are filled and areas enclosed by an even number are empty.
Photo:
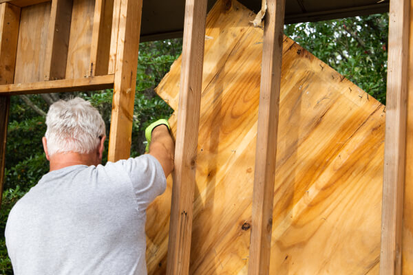
M175 155L175 144L169 134L165 124L156 126L151 134L151 144L149 145L149 155L158 159L162 166L165 177L168 177L173 170L173 157Z

